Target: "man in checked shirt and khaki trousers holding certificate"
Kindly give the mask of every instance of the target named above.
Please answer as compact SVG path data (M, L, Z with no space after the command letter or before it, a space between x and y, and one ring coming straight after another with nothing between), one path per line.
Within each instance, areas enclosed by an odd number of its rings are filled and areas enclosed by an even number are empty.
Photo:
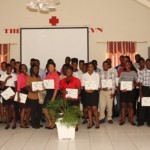
M105 123L105 110L107 108L107 120L112 121L113 96L115 92L115 74L109 69L108 61L103 62L103 70L100 72L100 124Z

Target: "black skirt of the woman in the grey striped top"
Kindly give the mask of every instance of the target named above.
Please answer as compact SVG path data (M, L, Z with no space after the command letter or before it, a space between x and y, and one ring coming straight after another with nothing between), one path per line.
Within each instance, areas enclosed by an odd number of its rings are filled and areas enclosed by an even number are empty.
M132 91L120 92L120 101L121 103L134 103L136 97L136 91L133 89Z

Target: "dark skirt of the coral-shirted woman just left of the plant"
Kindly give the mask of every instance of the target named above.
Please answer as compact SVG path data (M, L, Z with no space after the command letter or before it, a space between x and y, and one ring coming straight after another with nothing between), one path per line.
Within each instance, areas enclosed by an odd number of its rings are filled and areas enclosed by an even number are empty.
M48 102L51 101L51 99L53 97L53 94L54 94L54 89L46 90L46 96L45 96L45 99L44 99L43 108L45 108L46 105L48 104Z

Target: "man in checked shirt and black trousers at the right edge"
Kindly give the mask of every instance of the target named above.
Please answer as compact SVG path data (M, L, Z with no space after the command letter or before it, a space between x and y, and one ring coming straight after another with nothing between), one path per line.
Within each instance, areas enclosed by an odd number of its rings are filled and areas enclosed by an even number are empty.
M147 126L150 127L150 59L146 60L146 69L140 76L141 107L139 108L138 126L144 125L145 118Z

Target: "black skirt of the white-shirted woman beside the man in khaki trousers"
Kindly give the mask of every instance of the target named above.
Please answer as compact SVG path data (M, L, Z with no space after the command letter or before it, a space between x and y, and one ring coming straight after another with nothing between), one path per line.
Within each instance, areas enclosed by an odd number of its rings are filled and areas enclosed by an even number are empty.
M99 103L99 92L96 90L93 93L85 92L86 105L87 106L98 106Z

